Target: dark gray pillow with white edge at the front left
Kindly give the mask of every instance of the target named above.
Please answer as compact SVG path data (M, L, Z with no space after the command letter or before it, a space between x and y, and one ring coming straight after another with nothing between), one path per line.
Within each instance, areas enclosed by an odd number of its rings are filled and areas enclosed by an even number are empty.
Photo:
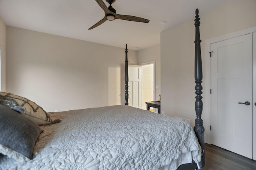
M0 154L20 161L32 159L32 151L40 133L37 123L0 105Z

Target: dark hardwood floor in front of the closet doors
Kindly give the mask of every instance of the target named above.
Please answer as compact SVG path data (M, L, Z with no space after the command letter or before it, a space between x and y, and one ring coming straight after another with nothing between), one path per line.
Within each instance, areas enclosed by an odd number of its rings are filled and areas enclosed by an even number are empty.
M206 143L204 170L256 170L256 161Z

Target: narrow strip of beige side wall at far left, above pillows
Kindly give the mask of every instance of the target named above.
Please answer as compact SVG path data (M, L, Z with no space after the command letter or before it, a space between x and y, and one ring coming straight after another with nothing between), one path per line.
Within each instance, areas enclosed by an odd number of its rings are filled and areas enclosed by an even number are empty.
M6 25L0 17L1 90L6 90Z

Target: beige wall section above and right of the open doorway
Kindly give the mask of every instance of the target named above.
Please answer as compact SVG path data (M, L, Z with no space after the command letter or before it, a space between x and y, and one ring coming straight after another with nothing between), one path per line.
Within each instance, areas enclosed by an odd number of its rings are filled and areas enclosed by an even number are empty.
M156 88L156 100L159 100L159 94L161 94L161 60L160 60L160 45L154 45L147 49L140 50L138 52L138 64L148 63L155 61L155 81L159 88Z

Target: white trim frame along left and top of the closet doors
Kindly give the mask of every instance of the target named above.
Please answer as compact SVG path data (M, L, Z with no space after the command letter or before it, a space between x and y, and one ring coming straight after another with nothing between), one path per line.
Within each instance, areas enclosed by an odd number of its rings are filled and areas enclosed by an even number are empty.
M204 101L204 109L203 109L203 115L205 115L205 119L204 119L205 143L211 144L211 130L210 130L210 125L211 125L211 94L210 94L210 90L211 90L211 58L210 58L211 44L217 43L219 41L224 41L226 39L239 37L241 35L246 35L248 33L253 33L253 32L256 32L256 27L251 27L248 29L244 29L244 30L230 33L227 35L223 35L220 37L207 39L205 41L205 44L206 44L205 80L204 80L205 81L205 87L204 87L205 101Z

